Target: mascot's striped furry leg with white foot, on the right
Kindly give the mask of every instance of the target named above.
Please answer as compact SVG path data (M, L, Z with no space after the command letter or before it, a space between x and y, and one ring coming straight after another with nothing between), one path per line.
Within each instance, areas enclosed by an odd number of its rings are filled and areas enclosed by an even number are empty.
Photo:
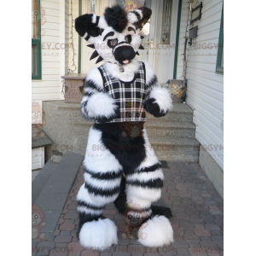
M131 206L131 218L140 216L146 220L138 231L138 241L145 247L161 247L173 241L172 225L166 214L161 214L160 208L158 215L154 215L155 209L151 204L160 199L164 174L145 130L143 136L147 157L134 173L125 176L127 204Z

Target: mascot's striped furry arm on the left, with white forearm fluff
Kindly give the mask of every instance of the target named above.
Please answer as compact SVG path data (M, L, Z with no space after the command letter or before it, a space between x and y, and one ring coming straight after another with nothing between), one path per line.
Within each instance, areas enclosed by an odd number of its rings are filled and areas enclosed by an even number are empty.
M81 113L85 119L96 119L100 123L109 122L119 114L115 100L103 90L102 75L97 68L86 78Z

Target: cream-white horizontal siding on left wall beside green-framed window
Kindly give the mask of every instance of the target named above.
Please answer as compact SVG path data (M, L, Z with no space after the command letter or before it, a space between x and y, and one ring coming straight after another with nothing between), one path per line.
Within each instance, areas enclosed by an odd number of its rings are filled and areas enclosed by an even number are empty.
M41 26L42 79L32 80L32 102L42 107L42 101L63 99L61 75L68 67L68 48L65 49L65 45L69 44L69 0L41 0L40 3L45 13L42 16L45 22ZM40 123L42 119L37 121ZM43 166L44 148L32 149L32 170Z

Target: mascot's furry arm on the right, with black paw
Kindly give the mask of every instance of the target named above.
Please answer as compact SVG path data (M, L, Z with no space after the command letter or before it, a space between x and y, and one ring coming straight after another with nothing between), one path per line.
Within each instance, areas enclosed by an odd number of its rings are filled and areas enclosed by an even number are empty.
M144 102L144 108L154 117L165 116L168 110L172 109L170 91L160 87L154 70L148 62L145 62L145 67L147 97Z

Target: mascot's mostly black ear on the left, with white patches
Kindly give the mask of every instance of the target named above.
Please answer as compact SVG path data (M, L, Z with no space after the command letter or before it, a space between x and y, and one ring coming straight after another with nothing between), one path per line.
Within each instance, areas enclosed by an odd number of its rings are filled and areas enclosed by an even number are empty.
M106 20L97 15L82 15L75 20L75 29L79 36L94 44L96 38L102 35L108 27Z

